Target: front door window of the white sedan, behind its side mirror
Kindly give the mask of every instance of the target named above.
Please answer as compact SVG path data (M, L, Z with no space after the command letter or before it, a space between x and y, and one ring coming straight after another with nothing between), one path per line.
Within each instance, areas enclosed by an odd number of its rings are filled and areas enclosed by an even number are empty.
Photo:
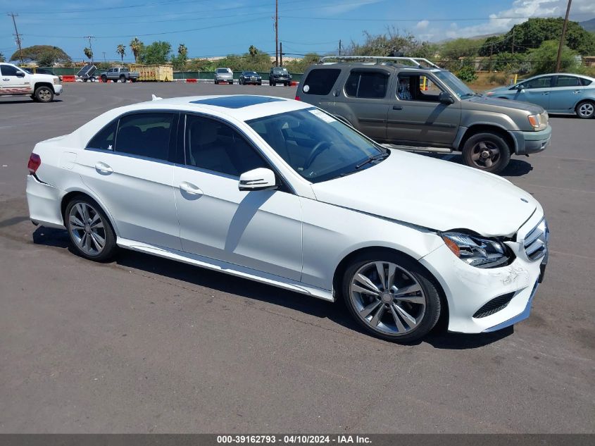
M202 116L186 116L186 164L239 177L259 167L262 156L229 125Z

